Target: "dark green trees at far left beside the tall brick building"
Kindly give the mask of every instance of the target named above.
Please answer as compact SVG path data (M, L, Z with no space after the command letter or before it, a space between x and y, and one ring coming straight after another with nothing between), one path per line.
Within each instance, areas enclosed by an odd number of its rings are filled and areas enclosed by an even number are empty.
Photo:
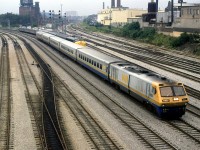
M17 27L19 25L30 25L30 16L19 16L12 13L6 13L0 15L0 25L2 27L8 27L8 21L10 21L11 27Z

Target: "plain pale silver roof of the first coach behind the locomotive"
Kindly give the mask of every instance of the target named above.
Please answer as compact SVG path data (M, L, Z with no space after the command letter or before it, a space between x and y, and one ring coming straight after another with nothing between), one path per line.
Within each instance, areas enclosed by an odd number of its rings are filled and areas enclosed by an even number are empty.
M92 57L94 57L96 59L99 59L99 60L101 60L103 62L106 62L106 63L123 61L122 59L106 55L106 54L101 53L101 52L99 52L97 50L90 49L88 47L81 48L78 51L80 51L80 52L82 52L82 53L84 53L86 55L92 56Z

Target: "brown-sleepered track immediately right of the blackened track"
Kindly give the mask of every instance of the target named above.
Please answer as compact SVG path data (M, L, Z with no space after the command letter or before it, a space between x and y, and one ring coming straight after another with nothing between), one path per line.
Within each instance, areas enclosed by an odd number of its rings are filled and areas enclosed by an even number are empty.
M69 87L56 75L54 76L54 83L57 93L65 101L65 104L87 134L87 141L92 143L92 149L123 149L114 138L109 136L108 131L85 109Z

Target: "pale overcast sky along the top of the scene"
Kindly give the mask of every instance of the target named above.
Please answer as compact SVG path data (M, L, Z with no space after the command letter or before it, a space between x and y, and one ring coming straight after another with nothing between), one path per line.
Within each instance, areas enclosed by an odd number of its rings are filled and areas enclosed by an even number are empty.
M103 2L105 6L110 7L111 0L34 0L40 2L41 11L54 10L58 12L63 5L63 12L77 11L78 15L96 14L102 9ZM147 9L148 2L151 0L121 0L122 6L129 8ZM159 0L159 8L163 9L167 6L169 0ZM176 3L178 0L174 0ZM200 0L184 0L190 3L200 3ZM0 14L6 12L19 13L20 0L0 0Z

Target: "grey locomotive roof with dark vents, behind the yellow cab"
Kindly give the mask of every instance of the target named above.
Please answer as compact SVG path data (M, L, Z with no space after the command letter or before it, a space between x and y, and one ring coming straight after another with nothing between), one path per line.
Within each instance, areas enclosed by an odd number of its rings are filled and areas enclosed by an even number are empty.
M120 70L123 70L127 72L130 75L133 75L137 78L140 78L142 80L145 80L146 82L158 82L158 84L173 84L175 81L170 80L164 76L161 76L160 74L157 74L153 71L150 71L148 69L145 69L143 67L140 67L138 65L132 64L132 63L115 63L112 64L113 66L119 68Z

